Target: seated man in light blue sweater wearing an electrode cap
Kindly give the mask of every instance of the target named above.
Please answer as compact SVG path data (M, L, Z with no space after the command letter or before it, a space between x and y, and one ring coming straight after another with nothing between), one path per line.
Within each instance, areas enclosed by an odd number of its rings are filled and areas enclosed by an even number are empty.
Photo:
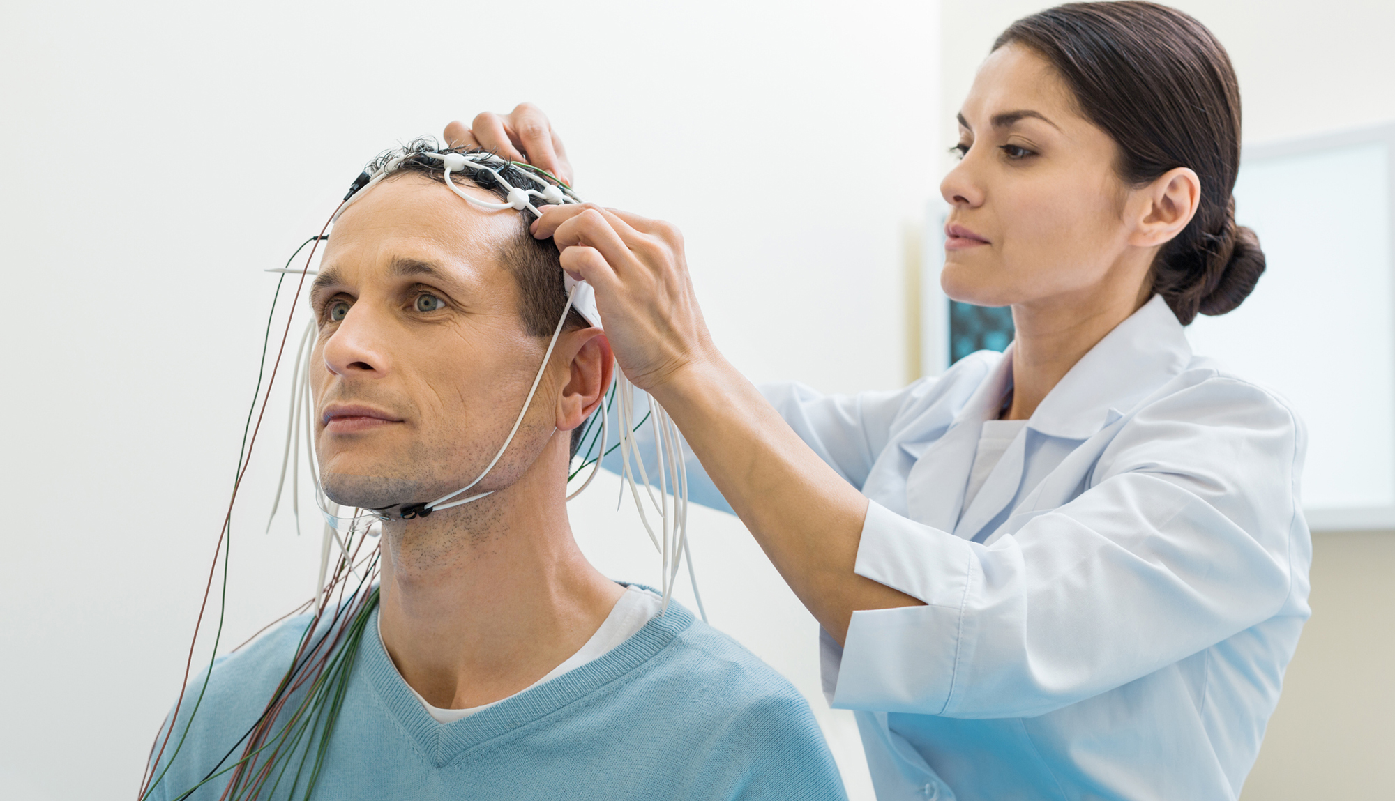
M598 328L568 317L485 472L566 306L557 248L522 215L462 201L439 160L400 160L336 222L310 303L325 494L400 508L481 473L470 494L490 494L382 523L381 601L340 646L352 670L324 708L324 747L310 768L266 772L258 797L303 797L307 781L322 798L844 797L788 682L681 606L660 615L654 593L607 579L572 539L571 433L612 377ZM293 620L213 666L187 737L193 699L179 712L152 798L209 776L190 797L222 797L236 770L219 770L282 692L306 629ZM293 706L266 719L282 726Z

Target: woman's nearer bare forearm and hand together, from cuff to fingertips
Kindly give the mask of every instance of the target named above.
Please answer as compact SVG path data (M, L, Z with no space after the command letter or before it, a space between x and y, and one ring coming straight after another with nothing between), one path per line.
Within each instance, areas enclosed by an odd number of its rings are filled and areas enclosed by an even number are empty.
M562 267L596 289L625 375L672 416L731 508L823 628L919 604L854 572L868 500L806 445L711 343L674 226L591 204L548 207Z

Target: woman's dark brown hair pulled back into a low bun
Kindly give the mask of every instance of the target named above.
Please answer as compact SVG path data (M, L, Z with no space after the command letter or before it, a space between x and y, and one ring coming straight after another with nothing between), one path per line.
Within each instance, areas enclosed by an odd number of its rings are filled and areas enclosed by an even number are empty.
M1056 68L1081 114L1119 144L1119 176L1144 186L1168 170L1201 179L1196 216L1162 247L1152 290L1183 325L1240 306L1264 272L1253 230L1235 225L1240 87L1221 42L1154 3L1070 3L1013 22L993 49L1021 45Z

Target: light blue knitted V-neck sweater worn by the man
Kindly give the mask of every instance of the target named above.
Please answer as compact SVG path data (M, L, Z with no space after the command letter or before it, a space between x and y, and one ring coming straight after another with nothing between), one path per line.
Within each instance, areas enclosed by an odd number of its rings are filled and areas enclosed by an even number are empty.
M845 798L804 698L677 603L600 659L448 724L398 674L377 617L314 798ZM188 740L151 798L179 798L234 748L306 625L290 620L215 663ZM216 800L225 787L215 780L190 798Z

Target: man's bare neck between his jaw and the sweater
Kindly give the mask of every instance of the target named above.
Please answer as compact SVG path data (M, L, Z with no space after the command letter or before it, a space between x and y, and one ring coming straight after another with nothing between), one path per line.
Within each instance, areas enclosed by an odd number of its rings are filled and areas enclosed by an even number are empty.
M547 469L561 459L565 470L565 458L544 454L492 495L384 525L382 641L432 706L526 689L586 645L624 593L576 547L555 479L565 473Z

